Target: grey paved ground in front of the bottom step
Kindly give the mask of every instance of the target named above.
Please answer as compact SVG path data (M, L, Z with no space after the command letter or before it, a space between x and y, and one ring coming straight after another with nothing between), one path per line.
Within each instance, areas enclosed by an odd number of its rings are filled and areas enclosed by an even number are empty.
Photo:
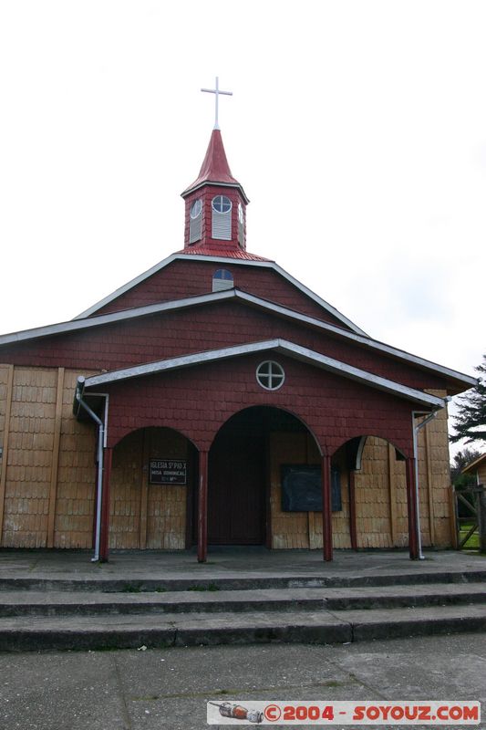
M485 675L481 634L333 646L2 653L0 727L201 730L208 699L480 700L486 714Z

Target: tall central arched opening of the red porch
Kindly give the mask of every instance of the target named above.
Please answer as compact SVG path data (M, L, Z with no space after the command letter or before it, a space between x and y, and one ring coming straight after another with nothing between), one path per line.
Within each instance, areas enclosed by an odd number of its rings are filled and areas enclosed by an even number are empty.
M321 515L285 501L291 468L302 479L316 473L320 494L321 454L295 415L253 406L225 422L209 453L208 544L321 547ZM298 491L295 478L289 489Z

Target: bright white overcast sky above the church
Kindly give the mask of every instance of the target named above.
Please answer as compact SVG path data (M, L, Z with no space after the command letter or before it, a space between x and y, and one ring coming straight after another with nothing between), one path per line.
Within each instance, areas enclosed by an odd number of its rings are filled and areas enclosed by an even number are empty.
M219 75L248 249L474 375L485 37L469 0L2 0L0 332L70 319L182 247Z

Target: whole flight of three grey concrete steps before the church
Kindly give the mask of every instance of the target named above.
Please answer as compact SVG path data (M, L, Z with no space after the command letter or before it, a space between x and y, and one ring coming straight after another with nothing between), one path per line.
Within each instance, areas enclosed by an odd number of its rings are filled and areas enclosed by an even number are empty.
M460 631L486 631L486 568L328 577L0 578L0 651L344 643Z

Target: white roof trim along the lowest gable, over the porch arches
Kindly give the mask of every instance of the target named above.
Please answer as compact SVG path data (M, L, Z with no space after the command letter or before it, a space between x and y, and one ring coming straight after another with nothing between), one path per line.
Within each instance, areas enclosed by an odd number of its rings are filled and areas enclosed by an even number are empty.
M300 360L309 365L313 365L322 370L327 370L336 375L341 375L352 381L357 381L379 391L385 391L399 398L405 398L408 401L419 402L432 408L443 408L446 401L435 395L429 395L418 391L415 388L408 388L406 385L389 381L387 378L381 378L378 375L359 370L345 362L328 358L312 349L307 349L296 345L286 339L267 339L264 342L252 342L247 345L238 345L231 348L212 349L205 352L197 352L191 355L182 355L177 358L168 360L158 360L144 365L137 365L131 368L123 368L122 370L113 370L112 372L102 373L100 375L92 375L86 379L86 387L98 387L107 383L126 381L131 378L140 378L148 375L155 375L171 370L180 370L194 365L202 365L209 362L228 360L229 358L239 357L241 355L249 355L254 352L264 352L274 349L283 355L287 355L295 360Z

